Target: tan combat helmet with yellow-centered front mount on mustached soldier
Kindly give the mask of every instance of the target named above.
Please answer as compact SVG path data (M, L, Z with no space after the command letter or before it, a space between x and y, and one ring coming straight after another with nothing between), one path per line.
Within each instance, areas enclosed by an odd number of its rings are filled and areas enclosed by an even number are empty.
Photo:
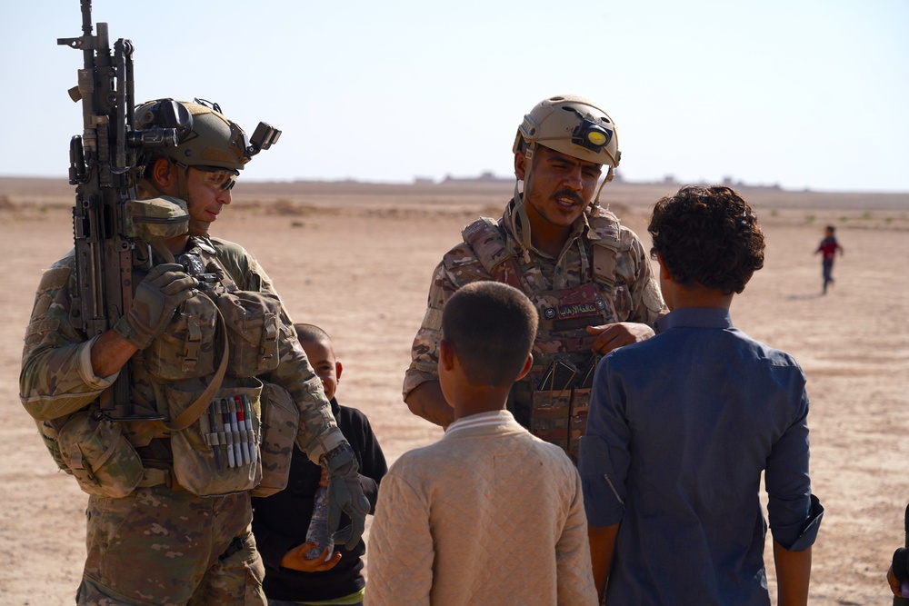
M514 135L513 152L524 148L532 156L537 145L544 145L574 158L608 166L606 180L613 177L622 153L618 135L609 114L589 99L575 94L560 94L534 106Z

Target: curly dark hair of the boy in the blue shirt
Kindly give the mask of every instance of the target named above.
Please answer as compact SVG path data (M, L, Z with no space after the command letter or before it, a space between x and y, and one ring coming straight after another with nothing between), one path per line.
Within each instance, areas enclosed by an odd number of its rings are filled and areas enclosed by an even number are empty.
M764 233L744 198L729 187L687 185L654 206L647 231L673 280L741 293L764 267Z

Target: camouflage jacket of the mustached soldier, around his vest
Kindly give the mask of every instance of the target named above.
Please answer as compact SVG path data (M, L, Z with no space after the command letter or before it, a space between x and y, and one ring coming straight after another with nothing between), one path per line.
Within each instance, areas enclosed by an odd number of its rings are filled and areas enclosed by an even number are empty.
M607 213L599 207L585 212L575 224L574 233L558 259L534 249L525 250L520 243L521 228L515 219L512 201L496 224L504 247L494 250L494 254L514 258L513 266L516 266L516 271L520 275L508 282L514 282L513 285L524 290L531 299L539 299L537 295L540 293L557 293L596 283L598 293L602 294L601 299L604 300L605 309L601 312L607 322L634 322L653 326L656 319L666 313L663 297L654 279L644 245L634 232L618 224L614 214ZM492 222L488 219L480 221ZM436 364L439 359L439 341L442 339L442 309L445 302L464 284L494 279L484 267L484 261L481 259L483 255L478 254L477 250L466 242L471 240L470 232L478 224L475 222L465 228L465 241L445 253L442 262L435 268L423 323L416 333L411 350L412 362L405 373L403 390L405 398L419 384L438 379ZM609 245L614 250L614 279L607 279L609 283L603 283L604 281L595 275L594 248L606 240L604 230L597 230L599 225L608 226L612 240ZM492 249L494 247L495 244L492 247L487 246ZM547 336L543 314L540 322L538 341ZM565 343L562 345L563 349L568 350L572 346Z

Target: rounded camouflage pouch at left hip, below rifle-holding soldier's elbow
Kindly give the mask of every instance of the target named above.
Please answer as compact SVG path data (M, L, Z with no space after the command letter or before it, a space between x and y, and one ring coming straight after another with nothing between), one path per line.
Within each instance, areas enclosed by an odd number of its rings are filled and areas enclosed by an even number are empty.
M143 476L142 460L119 422L76 412L57 434L60 456L79 488L98 497L125 497Z

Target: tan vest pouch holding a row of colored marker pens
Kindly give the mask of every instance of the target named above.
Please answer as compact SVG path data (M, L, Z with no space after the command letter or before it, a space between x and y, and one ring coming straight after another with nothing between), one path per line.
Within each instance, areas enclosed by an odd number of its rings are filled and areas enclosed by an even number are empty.
M205 411L170 434L176 483L198 496L248 491L262 478L259 457L259 398L262 382L225 381ZM172 419L204 391L195 382L164 387Z

